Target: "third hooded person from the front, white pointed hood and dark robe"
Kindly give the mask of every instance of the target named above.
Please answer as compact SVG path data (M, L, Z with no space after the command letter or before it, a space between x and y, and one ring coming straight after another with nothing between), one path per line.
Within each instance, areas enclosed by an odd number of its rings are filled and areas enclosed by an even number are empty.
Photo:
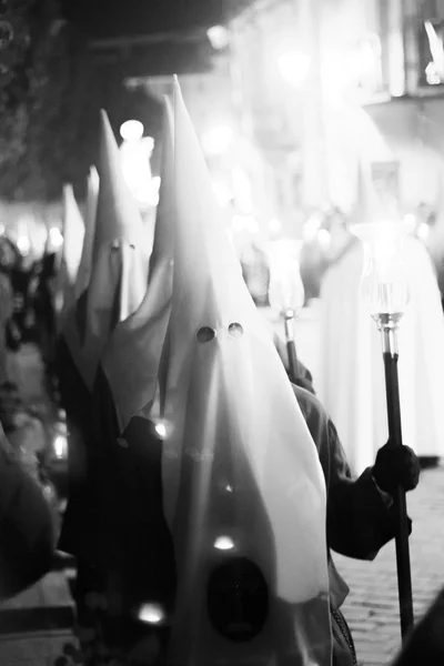
M83 291L67 315L58 357L60 391L71 433L71 492L60 541L60 547L68 552L80 547L88 551L91 539L95 539L92 497L99 470L92 391L100 357L115 325L140 306L148 284L150 249L143 243L143 222L119 160L115 139L102 111L99 194L95 206L97 179L92 173L77 281L78 295ZM91 538L80 537L79 531L88 532Z

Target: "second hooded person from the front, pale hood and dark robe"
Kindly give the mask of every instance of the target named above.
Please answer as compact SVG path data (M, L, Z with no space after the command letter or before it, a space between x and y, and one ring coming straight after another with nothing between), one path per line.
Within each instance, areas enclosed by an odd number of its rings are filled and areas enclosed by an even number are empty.
M175 564L162 512L161 445L150 411L170 317L172 292L173 122L165 107L162 193L147 293L112 332L93 391L98 559L112 586L122 633L144 599L170 607ZM79 599L81 606L82 601ZM123 636L117 629L113 639Z

